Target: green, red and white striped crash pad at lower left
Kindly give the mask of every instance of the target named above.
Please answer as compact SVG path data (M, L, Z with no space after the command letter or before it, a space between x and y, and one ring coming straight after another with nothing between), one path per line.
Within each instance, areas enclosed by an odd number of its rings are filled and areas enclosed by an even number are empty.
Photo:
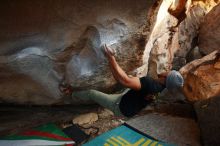
M73 146L74 144L74 140L68 137L59 127L52 123L0 138L1 146Z

